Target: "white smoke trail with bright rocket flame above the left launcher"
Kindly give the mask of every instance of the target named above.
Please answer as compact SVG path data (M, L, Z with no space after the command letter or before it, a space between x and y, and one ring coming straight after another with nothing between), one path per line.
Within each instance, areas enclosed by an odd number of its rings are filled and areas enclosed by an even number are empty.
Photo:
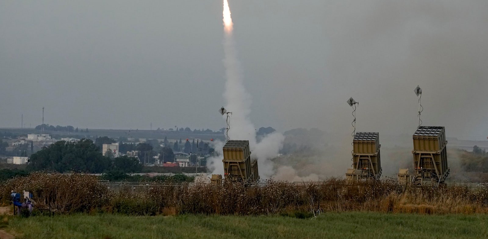
M259 143L256 140L256 128L249 119L251 113L251 96L244 88L239 60L237 60L234 38L232 35L233 23L227 0L224 0L224 66L225 66L225 108L232 112L229 130L230 139L249 140L252 157L258 159L261 178L267 179L273 175L273 164L269 160L276 157L282 147L285 137L280 133L269 134ZM215 148L221 151L222 147ZM217 161L219 160L219 161ZM209 159L209 164L222 164L222 158ZM223 167L223 166L222 166ZM222 174L220 167L211 167L213 173Z

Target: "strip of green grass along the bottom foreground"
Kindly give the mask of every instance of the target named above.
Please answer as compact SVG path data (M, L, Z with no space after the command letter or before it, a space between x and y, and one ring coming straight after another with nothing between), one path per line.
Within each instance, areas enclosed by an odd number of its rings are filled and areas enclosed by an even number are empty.
M5 221L5 220L4 220ZM26 239L65 238L488 238L488 215L328 213L279 216L127 217L71 215L8 218L4 229Z

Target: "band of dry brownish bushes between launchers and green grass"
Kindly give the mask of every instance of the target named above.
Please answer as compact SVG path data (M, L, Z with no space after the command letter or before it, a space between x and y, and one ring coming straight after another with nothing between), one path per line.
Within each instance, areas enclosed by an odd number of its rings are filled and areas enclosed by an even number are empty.
M33 173L1 185L0 202L10 190L29 190L36 208L57 213L109 212L126 215L281 214L306 218L312 211L393 213L487 213L488 188L402 187L392 180L354 185L329 179L319 183L265 181L258 185L224 182L150 182L110 191L97 177ZM312 214L313 215L313 214Z

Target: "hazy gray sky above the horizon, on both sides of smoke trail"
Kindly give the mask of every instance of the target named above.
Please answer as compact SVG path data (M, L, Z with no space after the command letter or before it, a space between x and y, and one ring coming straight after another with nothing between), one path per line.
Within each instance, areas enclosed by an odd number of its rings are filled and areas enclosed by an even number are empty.
M229 0L256 127L488 136L488 1ZM0 127L219 129L222 1L0 0ZM232 109L228 109L232 110Z

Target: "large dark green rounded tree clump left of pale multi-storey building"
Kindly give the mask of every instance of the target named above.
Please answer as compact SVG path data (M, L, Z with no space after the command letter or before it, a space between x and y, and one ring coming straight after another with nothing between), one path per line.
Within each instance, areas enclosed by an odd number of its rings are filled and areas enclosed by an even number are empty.
M110 159L104 157L90 139L55 142L32 154L27 165L30 170L54 170L60 173L102 173L109 167Z

